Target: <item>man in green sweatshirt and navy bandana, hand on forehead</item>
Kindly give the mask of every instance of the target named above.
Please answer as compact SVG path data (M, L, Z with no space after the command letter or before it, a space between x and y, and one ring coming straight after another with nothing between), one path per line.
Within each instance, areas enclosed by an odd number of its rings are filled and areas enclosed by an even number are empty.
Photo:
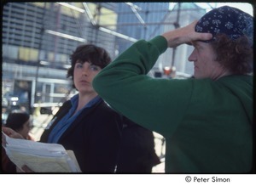
M195 48L195 78L147 76L166 48L181 44ZM253 168L252 71L253 17L224 6L134 43L93 87L114 110L166 138L166 173L246 173Z

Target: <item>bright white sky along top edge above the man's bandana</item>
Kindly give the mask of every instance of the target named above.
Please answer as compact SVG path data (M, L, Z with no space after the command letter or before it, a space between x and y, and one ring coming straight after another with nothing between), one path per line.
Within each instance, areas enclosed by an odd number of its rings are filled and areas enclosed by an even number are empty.
M170 7L172 8L172 6L176 4L176 3L171 3ZM202 7L202 8L207 8L207 11L210 11L212 8L210 8L209 4L213 7L213 8L218 8L224 5L228 5L230 7L235 7L235 8L239 8L242 11L251 14L253 16L253 6L250 3L196 3L198 6Z

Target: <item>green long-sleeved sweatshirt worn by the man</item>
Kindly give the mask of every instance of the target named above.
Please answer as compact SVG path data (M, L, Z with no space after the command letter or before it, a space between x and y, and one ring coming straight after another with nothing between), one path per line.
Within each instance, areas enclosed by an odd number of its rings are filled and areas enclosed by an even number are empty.
M253 77L148 76L164 37L134 43L93 86L114 110L166 138L166 173L240 173L253 164Z

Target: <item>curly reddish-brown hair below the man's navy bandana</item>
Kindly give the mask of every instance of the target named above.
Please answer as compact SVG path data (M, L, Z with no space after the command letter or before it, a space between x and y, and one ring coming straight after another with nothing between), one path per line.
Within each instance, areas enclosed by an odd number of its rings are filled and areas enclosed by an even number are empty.
M234 41L225 34L219 34L211 44L217 54L218 63L232 74L244 75L253 72L253 47L247 37L239 37Z

